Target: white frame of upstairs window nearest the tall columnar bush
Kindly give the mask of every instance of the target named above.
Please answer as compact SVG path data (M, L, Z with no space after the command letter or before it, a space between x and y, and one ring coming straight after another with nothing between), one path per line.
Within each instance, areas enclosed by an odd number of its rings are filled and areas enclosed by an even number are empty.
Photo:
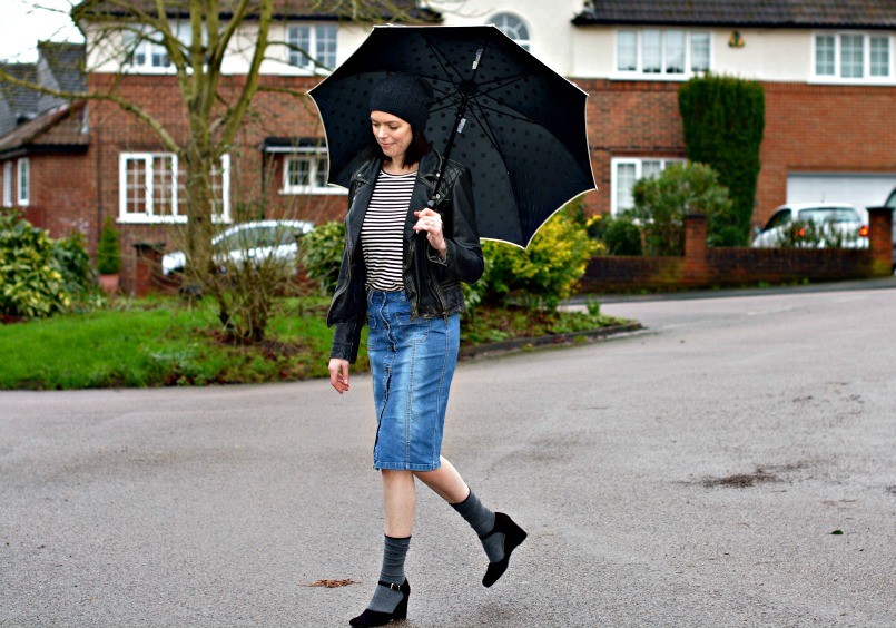
M649 72L644 71L644 33L659 33L660 36L660 71ZM621 70L619 63L620 56L620 35L634 35L634 70ZM669 72L669 48L668 35L669 33L683 33L685 36L685 58L682 60L682 72ZM696 35L706 37L707 41L707 67L705 69L693 69L693 38ZM613 68L611 77L621 80L631 79L649 79L649 80L672 80L685 81L700 76L712 70L712 32L705 29L687 29L687 28L618 28L613 32Z

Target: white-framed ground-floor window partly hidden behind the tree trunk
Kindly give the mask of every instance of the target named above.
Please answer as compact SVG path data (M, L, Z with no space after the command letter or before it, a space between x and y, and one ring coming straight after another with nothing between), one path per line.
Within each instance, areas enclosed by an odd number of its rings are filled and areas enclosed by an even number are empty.
M230 157L211 171L213 217L230 218ZM119 220L186 222L186 173L171 153L126 153L119 158Z

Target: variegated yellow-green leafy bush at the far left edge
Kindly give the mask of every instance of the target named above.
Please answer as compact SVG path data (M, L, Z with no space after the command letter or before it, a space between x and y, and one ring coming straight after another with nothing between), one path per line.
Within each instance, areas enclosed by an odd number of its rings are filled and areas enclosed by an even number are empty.
M0 215L0 313L33 318L71 305L72 294L56 248L47 232L20 214Z

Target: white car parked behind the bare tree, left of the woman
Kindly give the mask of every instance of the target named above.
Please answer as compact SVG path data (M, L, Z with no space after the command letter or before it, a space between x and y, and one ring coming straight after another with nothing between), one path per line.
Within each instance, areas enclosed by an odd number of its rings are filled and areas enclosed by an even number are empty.
M266 259L272 255L278 259L295 262L299 236L313 228L314 225L306 220L240 223L211 238L211 246L215 258L221 263L230 259L240 264L245 259ZM163 256L161 272L165 275L183 273L186 264L186 253L175 251Z

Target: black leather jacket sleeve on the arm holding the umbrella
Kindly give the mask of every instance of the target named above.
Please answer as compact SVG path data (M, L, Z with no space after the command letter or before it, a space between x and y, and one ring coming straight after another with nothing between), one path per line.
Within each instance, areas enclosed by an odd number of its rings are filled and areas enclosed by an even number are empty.
M485 268L482 245L476 227L475 203L473 200L473 177L470 169L461 168L451 186L452 233L445 238L445 258L430 249L429 258L443 264L460 281L473 284Z

